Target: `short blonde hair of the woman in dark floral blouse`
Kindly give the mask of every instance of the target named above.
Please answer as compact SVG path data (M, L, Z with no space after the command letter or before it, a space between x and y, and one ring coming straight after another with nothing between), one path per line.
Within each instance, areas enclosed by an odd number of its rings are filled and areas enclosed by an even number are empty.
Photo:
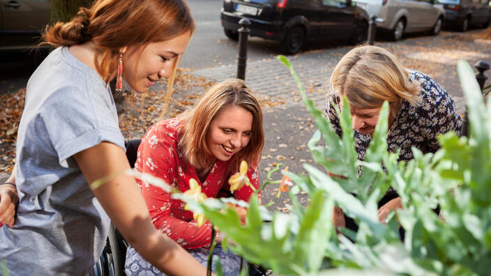
M419 83L409 80L396 56L376 46L356 47L345 54L331 75L331 89L361 109L382 107L388 101L393 116L402 100L413 106L421 102Z

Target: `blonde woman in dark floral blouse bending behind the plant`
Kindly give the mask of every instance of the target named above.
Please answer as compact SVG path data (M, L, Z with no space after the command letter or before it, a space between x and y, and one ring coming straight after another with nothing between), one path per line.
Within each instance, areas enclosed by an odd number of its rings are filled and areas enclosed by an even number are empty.
M388 101L388 151L400 150L400 160L411 160L412 147L423 153L434 153L440 146L437 137L448 131L460 135L462 120L455 112L455 103L434 79L408 70L396 56L386 49L361 46L349 51L339 61L331 75L331 89L327 96L326 117L339 136L342 135L335 106L342 108L345 96L352 113L352 127L358 160L372 139L384 101ZM361 170L358 171L361 174ZM388 213L401 208L400 197L391 188L379 202L379 220L385 222ZM344 226L340 209L335 220ZM346 222L355 228L354 222Z

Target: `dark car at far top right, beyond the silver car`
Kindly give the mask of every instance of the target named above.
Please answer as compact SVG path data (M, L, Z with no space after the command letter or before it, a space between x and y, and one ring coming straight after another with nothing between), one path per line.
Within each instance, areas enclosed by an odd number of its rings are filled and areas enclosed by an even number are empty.
M444 4L445 26L467 31L471 25L487 28L491 20L490 0L439 0Z

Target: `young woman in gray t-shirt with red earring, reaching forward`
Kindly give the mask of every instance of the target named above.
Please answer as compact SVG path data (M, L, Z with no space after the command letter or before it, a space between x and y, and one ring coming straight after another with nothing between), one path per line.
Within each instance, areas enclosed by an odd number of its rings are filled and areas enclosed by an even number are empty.
M96 0L47 27L44 42L56 49L29 79L17 163L0 185L0 222L10 225L0 228L0 260L10 275L88 275L111 221L158 269L205 275L153 227L135 179L123 174L130 164L109 89L125 79L145 93L163 77L171 91L194 29L181 0ZM114 177L91 189L105 176Z

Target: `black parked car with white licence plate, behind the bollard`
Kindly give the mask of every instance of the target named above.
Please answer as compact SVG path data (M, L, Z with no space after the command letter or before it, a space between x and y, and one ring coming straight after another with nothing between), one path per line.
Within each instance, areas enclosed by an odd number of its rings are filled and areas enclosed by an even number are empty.
M287 54L299 52L307 40L362 43L368 30L368 14L351 0L223 1L221 20L227 37L237 40L244 17L251 22L251 36L278 40Z

